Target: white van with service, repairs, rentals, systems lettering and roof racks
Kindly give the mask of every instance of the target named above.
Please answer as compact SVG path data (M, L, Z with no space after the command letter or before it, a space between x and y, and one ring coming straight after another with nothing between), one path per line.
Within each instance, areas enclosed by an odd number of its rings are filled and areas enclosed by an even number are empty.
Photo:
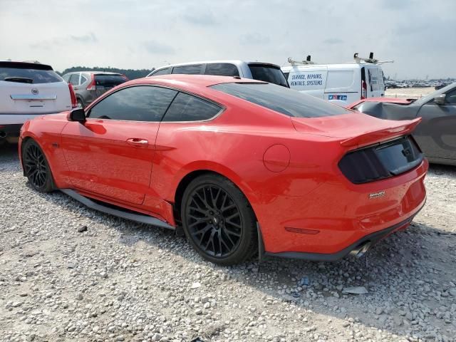
M295 62L289 58L289 62L291 66L284 66L281 70L291 89L329 100L336 105L346 106L363 98L385 95L383 71L373 58L358 58L358 54L355 54L353 63L316 64L308 56L308 61Z

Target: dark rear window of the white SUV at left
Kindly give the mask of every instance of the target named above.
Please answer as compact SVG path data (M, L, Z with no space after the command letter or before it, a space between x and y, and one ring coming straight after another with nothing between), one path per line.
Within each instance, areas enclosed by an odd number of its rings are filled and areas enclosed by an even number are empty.
M33 63L0 63L0 81L21 83L55 83L62 82L50 66Z

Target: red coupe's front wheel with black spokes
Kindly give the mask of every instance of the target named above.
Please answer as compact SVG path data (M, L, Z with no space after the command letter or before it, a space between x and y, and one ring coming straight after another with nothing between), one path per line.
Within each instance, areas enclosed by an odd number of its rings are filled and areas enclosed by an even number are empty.
M51 192L54 183L46 155L35 140L28 139L22 147L22 164L30 185L39 192Z

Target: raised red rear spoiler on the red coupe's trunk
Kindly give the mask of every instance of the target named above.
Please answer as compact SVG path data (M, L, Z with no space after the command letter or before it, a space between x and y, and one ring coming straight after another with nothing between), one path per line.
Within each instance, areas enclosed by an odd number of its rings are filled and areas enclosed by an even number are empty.
M343 147L353 147L353 146L366 146L373 145L376 142L391 140L398 138L401 135L407 135L415 130L416 126L421 122L421 118L416 118L414 120L401 120L395 121L395 125L392 125L388 128L383 128L381 130L373 130L371 132L366 132L361 135L356 135L356 137L348 138L341 141Z

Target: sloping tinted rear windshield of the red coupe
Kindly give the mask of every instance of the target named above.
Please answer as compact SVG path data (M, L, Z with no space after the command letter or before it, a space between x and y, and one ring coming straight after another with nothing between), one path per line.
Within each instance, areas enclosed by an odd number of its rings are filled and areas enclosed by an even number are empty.
M271 83L221 83L210 88L297 118L350 113L345 108L331 105L325 100Z

